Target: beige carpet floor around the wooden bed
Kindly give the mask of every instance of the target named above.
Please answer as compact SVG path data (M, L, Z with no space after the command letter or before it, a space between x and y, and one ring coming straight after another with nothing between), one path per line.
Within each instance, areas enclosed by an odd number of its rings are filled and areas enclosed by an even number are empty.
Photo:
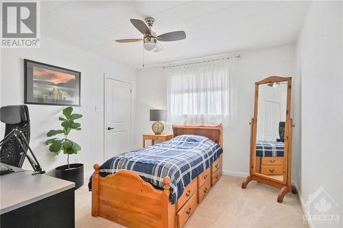
M251 181L241 189L243 178L223 175L200 203L185 228L191 227L307 227L297 195L286 194L277 203L278 190ZM75 191L76 227L122 227L91 216L91 192L86 183Z

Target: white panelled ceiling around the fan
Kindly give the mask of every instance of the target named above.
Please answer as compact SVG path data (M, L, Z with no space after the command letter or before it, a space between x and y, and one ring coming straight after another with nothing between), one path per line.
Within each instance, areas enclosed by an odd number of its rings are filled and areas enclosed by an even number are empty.
M142 38L130 18L156 19L154 31L185 30L187 38L145 51L145 66L294 42L305 1L42 1L41 32L55 40L141 68Z

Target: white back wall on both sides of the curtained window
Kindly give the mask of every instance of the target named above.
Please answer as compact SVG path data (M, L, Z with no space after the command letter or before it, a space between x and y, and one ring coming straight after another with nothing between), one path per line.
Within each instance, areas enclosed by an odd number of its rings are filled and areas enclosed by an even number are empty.
M224 170L226 174L248 175L250 153L248 123L253 114L255 81L271 75L294 77L294 45L241 51L239 54L241 59L236 61L234 77L230 79L235 88L235 119L224 127ZM137 147L141 147L142 134L151 131L149 110L167 108L167 76L161 66L145 68L137 71L137 85L139 86L137 86L136 138ZM295 145L294 153L299 153ZM295 173L299 173L297 168Z

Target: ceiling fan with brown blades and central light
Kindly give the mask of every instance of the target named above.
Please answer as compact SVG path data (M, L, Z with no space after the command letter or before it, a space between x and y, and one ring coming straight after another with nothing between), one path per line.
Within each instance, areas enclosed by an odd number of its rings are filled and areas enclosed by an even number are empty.
M147 51L159 52L163 50L161 42L183 40L186 38L185 31L171 31L166 34L156 36L156 32L152 31L155 19L152 17L145 18L145 22L139 19L130 19L132 25L136 27L143 34L143 38L121 39L115 40L117 42L138 42L143 40L143 47Z

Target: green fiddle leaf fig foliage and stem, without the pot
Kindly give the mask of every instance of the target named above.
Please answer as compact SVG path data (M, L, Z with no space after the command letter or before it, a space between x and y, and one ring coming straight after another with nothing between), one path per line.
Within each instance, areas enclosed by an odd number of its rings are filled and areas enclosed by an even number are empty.
M66 107L62 110L63 116L59 117L58 120L62 121L61 126L63 129L52 129L47 133L47 137L56 136L62 134L62 138L49 138L45 141L46 145L49 146L49 151L58 155L61 151L68 155L67 162L69 167L69 155L78 153L81 147L78 143L73 142L68 138L71 130L80 131L81 124L76 123L75 120L82 118L82 114L73 113L73 107Z

